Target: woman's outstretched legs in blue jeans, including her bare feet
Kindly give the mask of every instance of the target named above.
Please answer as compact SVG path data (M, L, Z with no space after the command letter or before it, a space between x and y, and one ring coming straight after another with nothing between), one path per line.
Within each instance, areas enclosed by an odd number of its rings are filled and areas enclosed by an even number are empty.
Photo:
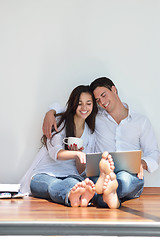
M56 178L47 174L37 174L31 180L33 196L51 199L67 206L87 206L95 193L93 182L77 176ZM71 193L70 200L69 194ZM78 204L77 204L78 203Z

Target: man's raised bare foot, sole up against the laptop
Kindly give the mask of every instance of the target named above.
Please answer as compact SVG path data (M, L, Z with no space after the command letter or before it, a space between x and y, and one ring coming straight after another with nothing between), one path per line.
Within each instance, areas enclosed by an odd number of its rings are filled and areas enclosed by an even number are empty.
M102 159L99 162L100 175L95 184L95 189L98 194L103 193L103 184L106 178L106 175L109 175L114 171L114 162L112 156L108 152L102 154Z

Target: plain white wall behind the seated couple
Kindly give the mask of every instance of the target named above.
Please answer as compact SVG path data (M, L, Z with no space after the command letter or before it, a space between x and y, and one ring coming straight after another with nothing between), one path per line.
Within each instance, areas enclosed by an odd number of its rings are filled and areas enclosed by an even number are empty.
M146 114L160 145L158 0L0 0L0 182L32 162L47 107L110 77ZM160 186L160 170L145 173Z

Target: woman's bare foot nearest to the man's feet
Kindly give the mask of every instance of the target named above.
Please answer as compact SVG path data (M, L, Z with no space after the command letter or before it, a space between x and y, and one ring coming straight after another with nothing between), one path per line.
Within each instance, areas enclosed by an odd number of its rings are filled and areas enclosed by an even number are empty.
M80 204L81 207L87 207L89 201L93 198L95 194L94 183L89 178L86 178L84 182L86 183L86 187L85 187L85 192L82 193L81 195L81 204Z

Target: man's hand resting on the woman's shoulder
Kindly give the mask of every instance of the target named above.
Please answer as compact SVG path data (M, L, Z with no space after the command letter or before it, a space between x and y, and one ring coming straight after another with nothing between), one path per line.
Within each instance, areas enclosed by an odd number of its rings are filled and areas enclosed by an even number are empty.
M56 118L54 116L56 112L54 110L50 110L46 113L44 120L43 120L43 134L46 135L47 138L52 137L52 127L54 127L55 131L57 132L57 123Z

